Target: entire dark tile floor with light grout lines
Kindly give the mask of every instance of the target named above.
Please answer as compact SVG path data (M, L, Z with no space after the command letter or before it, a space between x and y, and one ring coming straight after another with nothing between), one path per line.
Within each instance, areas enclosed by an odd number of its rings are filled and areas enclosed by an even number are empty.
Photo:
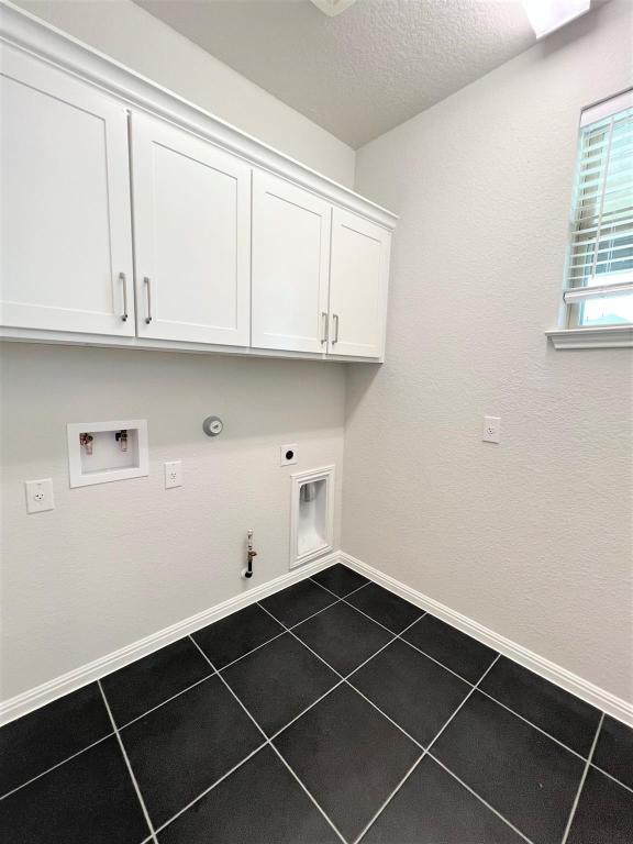
M3 844L632 844L633 730L333 566L0 730Z

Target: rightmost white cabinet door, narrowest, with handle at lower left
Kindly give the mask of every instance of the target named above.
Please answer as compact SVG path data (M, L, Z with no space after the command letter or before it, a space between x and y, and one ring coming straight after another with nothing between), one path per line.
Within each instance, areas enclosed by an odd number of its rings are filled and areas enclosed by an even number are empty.
M385 344L391 235L335 208L330 265L330 342L334 355L380 357Z

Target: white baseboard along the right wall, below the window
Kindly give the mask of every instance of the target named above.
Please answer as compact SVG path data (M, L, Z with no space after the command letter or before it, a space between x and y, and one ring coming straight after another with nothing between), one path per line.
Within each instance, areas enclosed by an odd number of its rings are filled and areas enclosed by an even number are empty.
M406 586L400 582L400 580L396 580L393 577L382 574L382 571L379 571L373 566L368 566L366 563L356 559L356 557L353 557L349 554L341 552L338 554L338 559L344 565L349 566L349 568L353 568L360 575L369 578L369 580L374 580L390 592L400 596L400 598L404 598L406 601L409 601L423 610L427 610L433 615L442 619L442 621L452 624L454 628L473 636L473 638L477 638L485 645L495 648L495 651L498 651L509 659L513 659L515 663L529 668L540 677L544 677L546 680L559 686L562 689L569 691L571 695L576 695L576 697L581 698L587 701L587 703L591 703L603 712L607 712L608 715L612 715L618 719L618 721L622 721L629 726L633 726L633 703L629 703L622 698L611 695L611 692L601 689L599 686L595 686L592 682L568 671L566 668L562 668L549 659L538 656L538 654L529 651L526 647L518 645L515 642L506 638L506 636L495 633L495 631L485 628L477 621L473 621L473 619L468 619L466 615L455 612L455 610L433 600L433 598L429 598L417 589Z

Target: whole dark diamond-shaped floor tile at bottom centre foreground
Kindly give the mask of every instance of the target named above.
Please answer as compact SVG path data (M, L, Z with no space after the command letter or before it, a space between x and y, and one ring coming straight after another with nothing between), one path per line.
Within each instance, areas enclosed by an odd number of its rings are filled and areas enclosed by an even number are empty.
M275 745L347 841L362 832L420 754L346 685L295 721Z

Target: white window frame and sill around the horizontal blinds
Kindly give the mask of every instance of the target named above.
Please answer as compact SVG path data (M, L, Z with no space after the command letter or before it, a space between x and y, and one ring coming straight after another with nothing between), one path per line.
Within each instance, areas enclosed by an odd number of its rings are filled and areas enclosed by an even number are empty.
M584 109L580 114L579 130L628 108L633 108L633 89ZM567 268L565 277L567 282ZM626 274L618 281L607 281L603 285L565 287L559 310L559 327L545 332L546 335L552 340L555 348L633 347L633 324L592 326L575 323L578 306L584 301L630 290L633 290L633 274Z

